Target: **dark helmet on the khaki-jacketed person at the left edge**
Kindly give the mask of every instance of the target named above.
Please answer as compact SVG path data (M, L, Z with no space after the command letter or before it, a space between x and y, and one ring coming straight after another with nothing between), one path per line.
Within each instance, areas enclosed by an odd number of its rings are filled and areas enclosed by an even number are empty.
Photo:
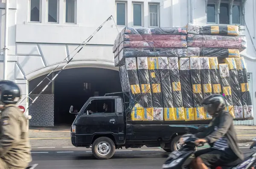
M0 81L1 104L16 104L20 101L20 88L12 81Z

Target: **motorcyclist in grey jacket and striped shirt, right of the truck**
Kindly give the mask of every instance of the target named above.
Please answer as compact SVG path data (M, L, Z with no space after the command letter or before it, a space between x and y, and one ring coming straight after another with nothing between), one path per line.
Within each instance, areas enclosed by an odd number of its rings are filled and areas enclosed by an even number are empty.
M238 158L243 160L237 144L233 117L224 110L227 106L224 96L212 94L204 98L202 104L204 110L212 115L212 121L204 132L196 134L199 139L195 141L195 144L207 142L211 147L195 152L192 167L208 169L210 166L218 166Z

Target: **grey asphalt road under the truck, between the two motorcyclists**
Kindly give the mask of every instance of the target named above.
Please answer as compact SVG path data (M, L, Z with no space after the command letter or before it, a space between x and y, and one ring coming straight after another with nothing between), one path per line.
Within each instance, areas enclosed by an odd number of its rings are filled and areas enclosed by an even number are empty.
M239 144L241 150L250 144ZM201 148L202 149L202 148ZM168 153L163 149L118 149L108 160L96 160L91 149L73 146L32 147L32 164L36 169L161 169Z

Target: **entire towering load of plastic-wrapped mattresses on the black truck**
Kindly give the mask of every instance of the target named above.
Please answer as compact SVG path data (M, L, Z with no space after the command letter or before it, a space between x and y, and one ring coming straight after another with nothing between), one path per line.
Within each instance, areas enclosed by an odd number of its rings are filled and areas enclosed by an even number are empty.
M212 93L225 97L234 118L252 118L245 48L234 25L124 28L113 53L122 90L130 92L128 119L210 119L201 101Z

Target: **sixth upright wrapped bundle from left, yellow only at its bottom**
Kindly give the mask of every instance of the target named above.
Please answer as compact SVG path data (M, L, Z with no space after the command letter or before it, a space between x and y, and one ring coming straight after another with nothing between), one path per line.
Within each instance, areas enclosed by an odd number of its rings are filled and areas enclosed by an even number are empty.
M183 99L183 107L185 113L185 120L195 120L193 94L191 90L190 72L189 72L189 58L180 58L180 77L181 91Z

